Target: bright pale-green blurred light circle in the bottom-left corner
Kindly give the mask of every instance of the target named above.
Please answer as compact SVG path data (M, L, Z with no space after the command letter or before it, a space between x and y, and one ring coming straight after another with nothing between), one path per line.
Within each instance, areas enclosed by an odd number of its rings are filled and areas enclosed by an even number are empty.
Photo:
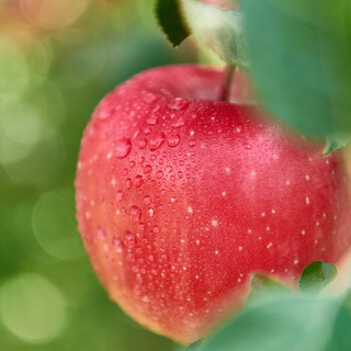
M0 316L14 336L29 343L45 343L61 335L67 303L47 278L21 273L1 285Z

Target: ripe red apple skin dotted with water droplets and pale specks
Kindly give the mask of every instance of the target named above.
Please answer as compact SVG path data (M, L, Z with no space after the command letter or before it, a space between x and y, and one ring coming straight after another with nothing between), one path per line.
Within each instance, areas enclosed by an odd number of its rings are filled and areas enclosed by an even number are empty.
M125 313L182 343L240 308L253 272L296 286L307 264L339 264L350 248L340 154L320 157L253 104L216 101L223 79L192 65L135 76L101 101L79 155L97 275Z

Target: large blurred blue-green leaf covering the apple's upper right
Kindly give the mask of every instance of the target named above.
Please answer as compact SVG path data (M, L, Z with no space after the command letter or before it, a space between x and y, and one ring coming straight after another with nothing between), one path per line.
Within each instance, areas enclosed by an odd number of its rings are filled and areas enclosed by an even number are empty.
M251 73L268 110L304 133L351 132L351 1L241 0Z

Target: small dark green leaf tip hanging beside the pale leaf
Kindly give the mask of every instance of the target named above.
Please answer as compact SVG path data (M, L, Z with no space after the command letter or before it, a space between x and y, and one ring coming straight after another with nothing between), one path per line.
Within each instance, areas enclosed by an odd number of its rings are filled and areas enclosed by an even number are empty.
M190 35L183 23L178 0L156 0L155 14L159 26L174 47Z

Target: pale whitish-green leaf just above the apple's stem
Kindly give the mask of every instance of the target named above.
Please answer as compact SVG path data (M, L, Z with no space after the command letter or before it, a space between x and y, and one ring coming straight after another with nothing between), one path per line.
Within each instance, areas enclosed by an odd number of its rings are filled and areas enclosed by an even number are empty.
M223 60L248 66L240 12L196 0L179 1L184 21L197 41L212 48Z

